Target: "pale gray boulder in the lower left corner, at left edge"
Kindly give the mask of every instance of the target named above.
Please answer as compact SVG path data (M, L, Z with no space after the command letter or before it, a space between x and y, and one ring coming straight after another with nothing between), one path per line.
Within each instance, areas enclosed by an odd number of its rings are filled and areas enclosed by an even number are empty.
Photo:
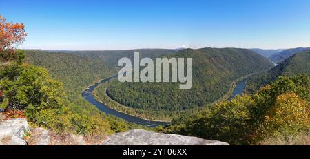
M0 145L27 145L23 140L25 132L30 131L27 120L13 118L0 122Z

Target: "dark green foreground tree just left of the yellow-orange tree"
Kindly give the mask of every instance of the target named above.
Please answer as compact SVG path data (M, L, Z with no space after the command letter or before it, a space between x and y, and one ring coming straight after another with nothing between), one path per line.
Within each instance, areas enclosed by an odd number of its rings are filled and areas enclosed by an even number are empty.
M251 127L250 109L255 103L251 96L238 96L210 108L209 114L194 120L194 134L211 140L224 140L230 144L249 144Z

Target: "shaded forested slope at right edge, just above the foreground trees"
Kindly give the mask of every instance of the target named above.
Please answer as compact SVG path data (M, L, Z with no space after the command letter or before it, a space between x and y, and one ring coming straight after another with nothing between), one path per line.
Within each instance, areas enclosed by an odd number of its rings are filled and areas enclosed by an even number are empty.
M247 91L255 93L260 87L274 81L279 76L293 76L295 74L310 75L310 51L294 54L268 72L249 77Z

